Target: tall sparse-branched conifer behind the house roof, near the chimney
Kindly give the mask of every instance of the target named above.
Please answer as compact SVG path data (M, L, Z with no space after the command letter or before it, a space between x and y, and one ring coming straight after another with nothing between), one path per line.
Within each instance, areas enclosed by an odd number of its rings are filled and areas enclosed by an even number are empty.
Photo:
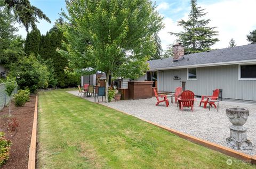
M197 7L196 0L191 0L188 21L178 21L178 26L182 26L184 31L179 33L170 32L171 35L179 38L177 41L183 44L186 54L203 52L219 41L218 38L213 38L218 35L218 31L214 31L216 27L207 26L211 20L200 19L207 14L204 13L204 10Z

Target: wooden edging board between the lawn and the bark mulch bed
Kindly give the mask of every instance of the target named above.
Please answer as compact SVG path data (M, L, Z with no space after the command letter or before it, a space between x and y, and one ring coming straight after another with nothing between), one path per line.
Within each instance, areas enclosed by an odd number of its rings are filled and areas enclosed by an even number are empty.
M38 98L36 96L33 129L29 147L28 169L35 169L36 167L37 99Z

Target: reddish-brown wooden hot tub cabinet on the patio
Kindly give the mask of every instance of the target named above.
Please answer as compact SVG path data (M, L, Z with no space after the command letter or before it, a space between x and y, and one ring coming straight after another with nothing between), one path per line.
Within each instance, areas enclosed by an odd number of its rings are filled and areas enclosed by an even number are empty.
M145 99L152 97L153 81L128 82L129 99Z

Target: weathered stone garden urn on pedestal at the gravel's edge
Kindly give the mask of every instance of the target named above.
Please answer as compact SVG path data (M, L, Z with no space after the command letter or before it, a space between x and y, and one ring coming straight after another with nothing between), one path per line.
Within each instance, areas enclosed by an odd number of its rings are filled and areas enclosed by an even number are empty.
M226 139L227 144L237 150L252 149L252 142L246 136L247 128L243 126L249 116L248 109L227 108L226 114L228 120L233 124L229 126L230 137Z

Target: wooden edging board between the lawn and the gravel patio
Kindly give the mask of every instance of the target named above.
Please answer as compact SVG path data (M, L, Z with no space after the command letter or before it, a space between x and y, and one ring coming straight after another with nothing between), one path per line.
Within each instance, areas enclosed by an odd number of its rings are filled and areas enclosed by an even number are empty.
M90 102L90 100L89 100L89 102ZM97 102L94 102L94 103L97 103ZM97 103L97 104L100 104L100 103ZM100 104L100 105L102 105L102 104ZM102 106L106 106L106 105L102 105ZM112 107L109 107L109 106L106 106L106 107L112 108ZM221 145L217 145L217 144L215 144L213 142L206 141L206 140L203 140L203 139L199 139L197 137L190 136L189 134L186 134L186 133L183 133L183 132L179 132L179 131L173 130L171 128L167 128L166 126L163 126L163 125L151 122L151 121L147 121L147 120L141 119L140 117L137 117L137 116L134 116L132 114L120 111L118 109L115 109L115 108L112 108L112 109L114 109L115 111L118 111L118 112L130 115L130 116L136 117L137 119L140 119L140 120L145 121L147 123L153 124L155 126L158 126L158 128L162 128L162 129L164 129L166 131L169 131L169 132L171 132L171 133L173 133L173 134L175 134L175 135L177 135L177 136L179 136L179 137L181 137L183 139L186 139L188 141L194 142L194 143L196 143L198 145L210 148L210 149L215 150L215 151L219 151L220 153L226 154L226 155L228 155L230 157L235 157L237 159L244 160L244 162L246 162L246 163L256 164L256 155L249 156L249 155L247 155L245 153L240 153L239 151L233 150L231 148L228 148L228 147L225 147L225 146L221 146Z

